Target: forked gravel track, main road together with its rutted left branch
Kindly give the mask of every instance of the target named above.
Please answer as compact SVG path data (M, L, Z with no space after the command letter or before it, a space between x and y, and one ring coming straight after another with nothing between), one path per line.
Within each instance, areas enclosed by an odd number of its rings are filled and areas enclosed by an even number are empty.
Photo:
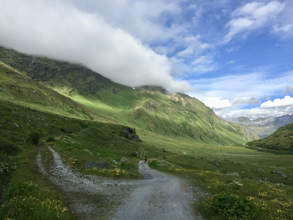
M47 144L46 144L47 145ZM69 212L79 219L203 219L195 218L192 192L183 192L183 180L151 169L139 162L144 180L119 180L72 171L61 156L51 150L54 165L49 169L37 156L40 172L59 187L69 199ZM99 196L104 202L96 204L91 197ZM113 209L115 207L115 209Z

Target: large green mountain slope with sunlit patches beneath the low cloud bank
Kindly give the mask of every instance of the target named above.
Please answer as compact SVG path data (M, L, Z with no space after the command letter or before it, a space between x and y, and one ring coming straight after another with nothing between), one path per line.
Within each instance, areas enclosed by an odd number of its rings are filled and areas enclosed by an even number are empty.
M185 94L172 94L152 86L132 89L81 65L5 48L0 48L0 57L5 63L2 72L6 72L1 86L17 101L36 109L124 124L196 143L231 145L257 139Z

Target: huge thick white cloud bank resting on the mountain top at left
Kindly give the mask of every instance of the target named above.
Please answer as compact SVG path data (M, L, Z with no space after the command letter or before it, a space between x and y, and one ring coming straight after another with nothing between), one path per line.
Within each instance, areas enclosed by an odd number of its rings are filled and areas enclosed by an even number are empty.
M33 7L32 7L33 5ZM190 88L171 77L171 63L98 14L67 1L5 1L0 14L0 42L16 50L83 63L121 84L162 85L173 92ZM171 7L171 6L170 6ZM173 9L170 9L173 10Z

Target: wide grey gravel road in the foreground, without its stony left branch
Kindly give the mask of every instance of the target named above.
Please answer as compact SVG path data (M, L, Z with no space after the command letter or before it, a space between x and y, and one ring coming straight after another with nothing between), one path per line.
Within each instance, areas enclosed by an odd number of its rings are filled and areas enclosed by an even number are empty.
M193 198L181 191L178 178L153 170L143 162L139 162L139 172L145 180L112 219L195 219L189 206Z

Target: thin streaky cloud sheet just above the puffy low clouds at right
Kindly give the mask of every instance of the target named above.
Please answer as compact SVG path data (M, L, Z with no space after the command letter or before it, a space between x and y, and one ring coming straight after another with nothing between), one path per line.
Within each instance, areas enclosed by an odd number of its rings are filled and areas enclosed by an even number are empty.
M205 97L222 97L232 102L236 98L255 97L281 94L287 86L293 84L293 72L270 76L264 68L261 72L246 72L222 77L201 78L190 80L193 87L204 91L204 94L194 93L195 97L205 100Z

